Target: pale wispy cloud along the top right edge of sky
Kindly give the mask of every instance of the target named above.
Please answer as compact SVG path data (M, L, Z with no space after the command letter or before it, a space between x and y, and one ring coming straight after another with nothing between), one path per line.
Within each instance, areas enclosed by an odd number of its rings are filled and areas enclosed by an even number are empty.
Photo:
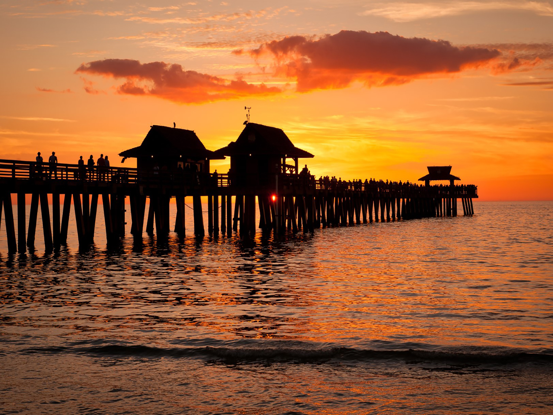
M451 15L487 12L493 10L529 11L539 15L553 16L553 7L547 2L434 2L434 3L380 3L361 15L385 17L394 22L445 17Z

